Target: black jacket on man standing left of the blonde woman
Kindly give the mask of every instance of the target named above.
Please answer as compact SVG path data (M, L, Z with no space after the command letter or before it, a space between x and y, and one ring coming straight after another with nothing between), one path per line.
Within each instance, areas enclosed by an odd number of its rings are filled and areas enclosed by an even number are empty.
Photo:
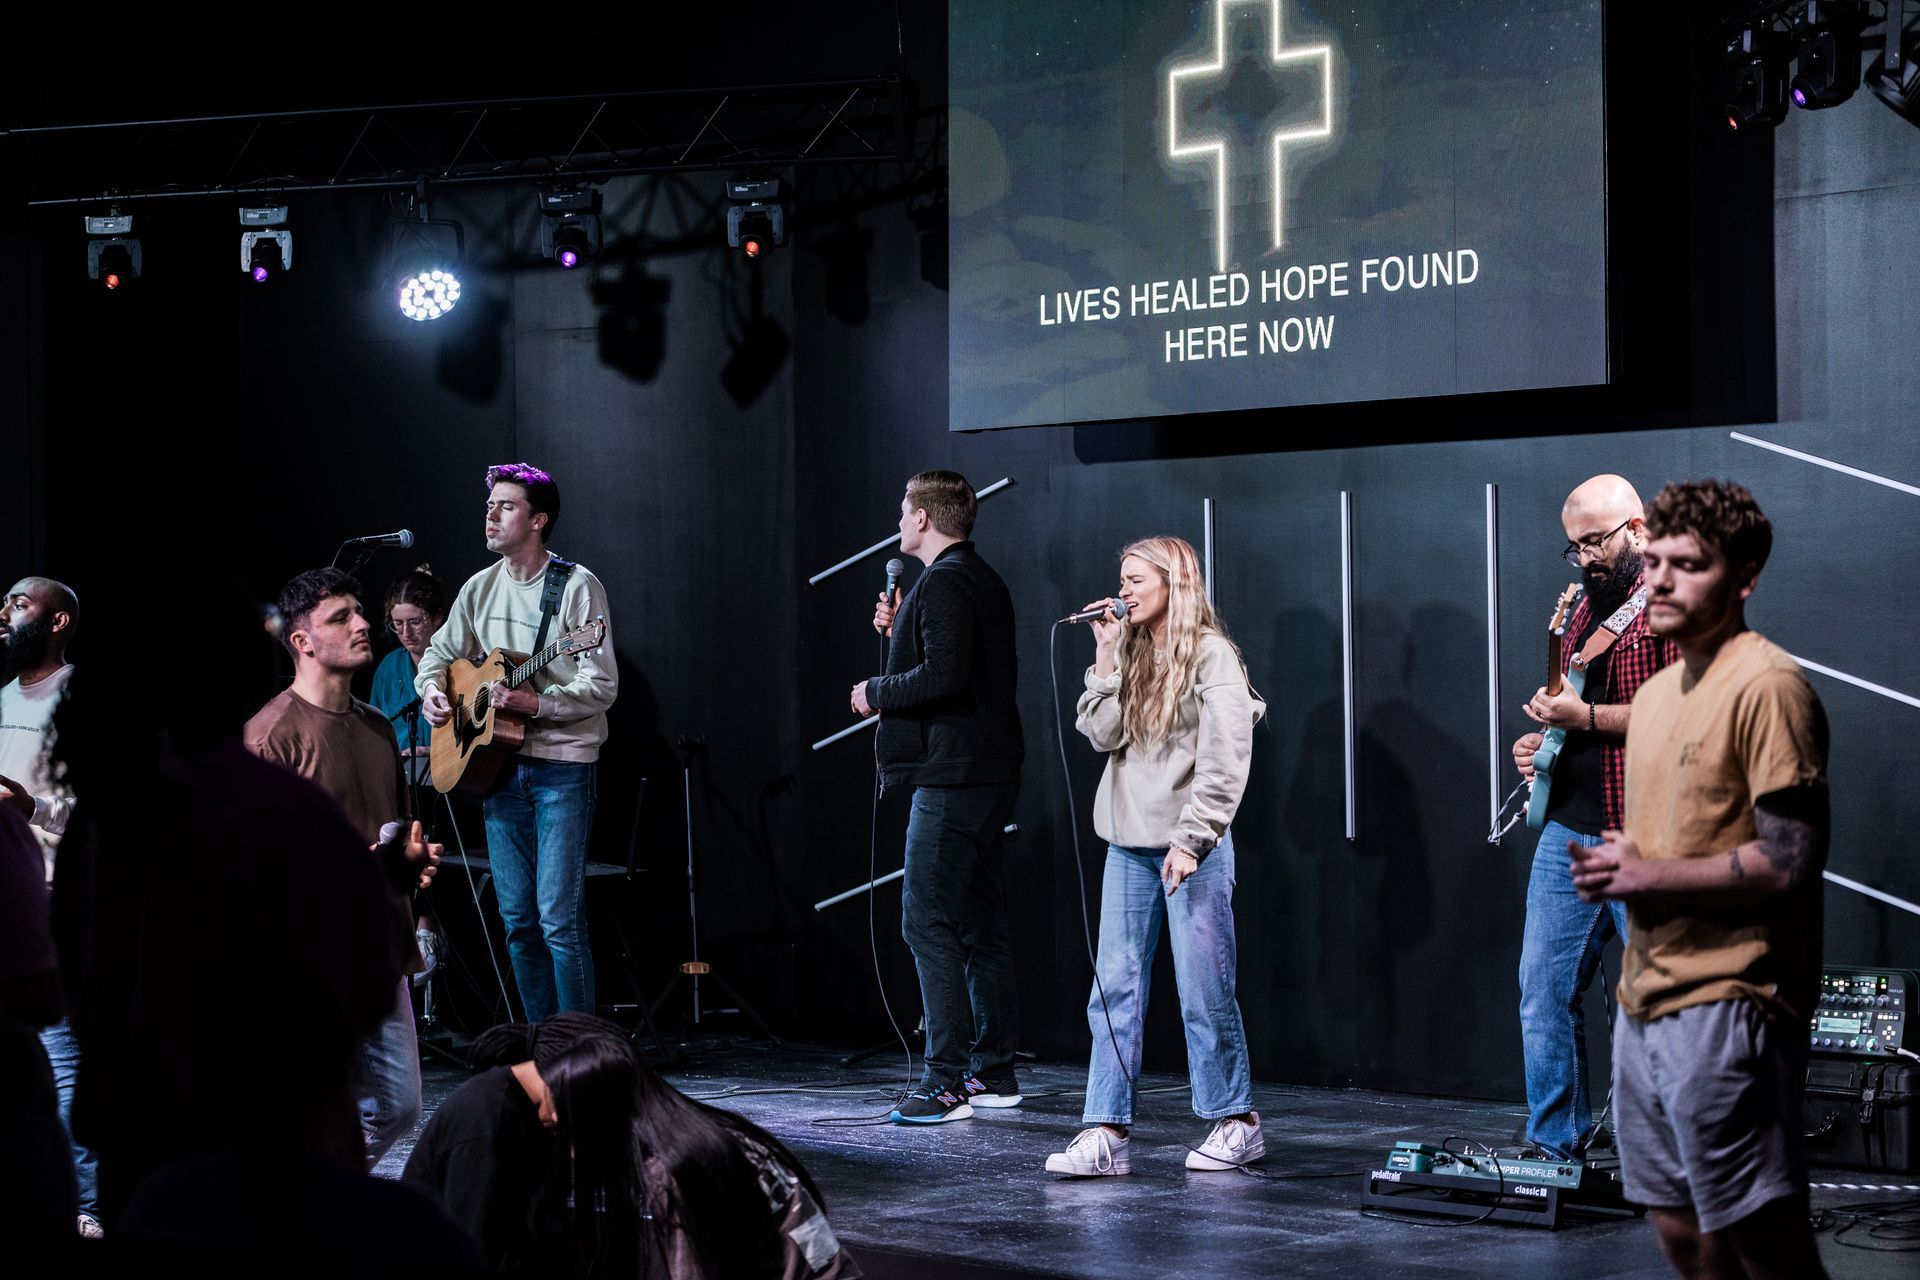
M973 543L920 574L893 616L887 674L866 681L879 712L874 756L887 787L1020 779L1014 599Z

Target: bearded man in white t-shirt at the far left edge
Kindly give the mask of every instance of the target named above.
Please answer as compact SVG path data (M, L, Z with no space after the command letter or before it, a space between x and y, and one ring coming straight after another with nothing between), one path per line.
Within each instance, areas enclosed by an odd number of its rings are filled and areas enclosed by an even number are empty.
M81 616L73 587L52 578L21 578L0 599L0 804L33 827L54 885L54 854L67 829L73 794L54 777L54 712L60 710L73 664L67 641ZM81 1054L65 1019L40 1031L40 1044L60 1088L60 1119L73 1132L73 1079ZM81 1234L100 1234L100 1180L94 1153L73 1146L81 1192Z

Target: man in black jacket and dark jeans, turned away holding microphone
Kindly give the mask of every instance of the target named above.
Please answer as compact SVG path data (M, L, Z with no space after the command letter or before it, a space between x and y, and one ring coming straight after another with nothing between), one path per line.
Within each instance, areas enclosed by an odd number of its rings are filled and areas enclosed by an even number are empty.
M1002 841L1023 754L1014 601L968 541L975 510L956 472L906 482L900 551L927 568L904 601L881 595L887 674L852 687L854 712L879 712L881 785L914 789L900 931L920 969L927 1052L920 1086L893 1111L900 1125L1020 1103Z

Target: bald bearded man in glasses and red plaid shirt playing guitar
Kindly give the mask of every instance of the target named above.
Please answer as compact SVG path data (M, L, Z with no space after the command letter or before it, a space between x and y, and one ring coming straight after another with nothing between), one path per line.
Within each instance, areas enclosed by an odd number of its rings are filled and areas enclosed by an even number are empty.
M1619 902L1582 902L1567 842L1594 844L1624 825L1626 720L1640 685L1674 660L1672 641L1647 631L1640 553L1647 545L1640 493L1620 476L1594 476L1561 507L1567 547L1584 593L1567 620L1567 658L1590 654L1584 695L1542 687L1521 710L1542 729L1565 729L1546 829L1526 883L1521 938L1521 1050L1526 1059L1526 1140L1578 1157L1594 1140L1586 1073L1584 992L1615 936L1626 936ZM1611 639L1609 637L1617 637ZM1513 745L1530 777L1542 735Z

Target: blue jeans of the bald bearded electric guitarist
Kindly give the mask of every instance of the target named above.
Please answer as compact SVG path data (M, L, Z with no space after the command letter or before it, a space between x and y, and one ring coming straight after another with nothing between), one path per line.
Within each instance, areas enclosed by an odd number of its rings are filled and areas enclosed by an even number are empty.
M1624 902L1580 902L1567 842L1597 835L1549 821L1534 848L1521 936L1521 1050L1526 1057L1526 1138L1572 1155L1594 1125L1586 1079L1582 994L1615 936L1626 938Z

